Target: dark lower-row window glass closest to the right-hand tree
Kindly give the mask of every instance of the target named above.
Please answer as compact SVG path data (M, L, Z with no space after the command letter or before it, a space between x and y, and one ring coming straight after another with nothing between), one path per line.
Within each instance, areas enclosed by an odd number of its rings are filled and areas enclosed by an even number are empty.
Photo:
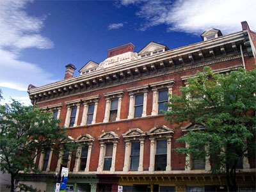
M155 171L165 171L167 161L167 140L156 141Z

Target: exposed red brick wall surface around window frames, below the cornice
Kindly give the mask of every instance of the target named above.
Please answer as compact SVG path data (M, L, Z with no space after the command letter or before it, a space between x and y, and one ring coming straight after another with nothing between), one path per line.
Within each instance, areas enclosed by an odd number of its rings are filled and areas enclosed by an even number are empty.
M246 68L252 69L254 67L254 63L255 63L254 58L246 58L245 61L246 61ZM213 69L226 68L226 67L231 67L233 65L239 65L241 63L242 63L242 60L237 59L232 62L228 61L228 62L212 65L211 67ZM79 98L81 99L84 97L89 97L91 95L99 94L100 100L99 100L99 105L97 109L96 123L100 123L100 122L103 122L105 106L106 106L106 100L104 99L103 93L113 92L115 90L124 90L125 93L122 99L120 122L113 122L108 124L95 124L95 125L88 125L88 126L85 125L81 127L74 127L72 129L68 129L68 135L72 136L72 138L76 139L81 134L86 134L86 133L90 134L91 136L93 136L93 138L95 138L95 141L92 147L92 156L91 156L90 168L89 168L90 171L97 171L97 166L99 162L99 149L100 149L99 140L97 138L100 136L100 134L102 134L102 131L104 132L114 131L116 134L118 134L118 136L120 136L120 140L118 141L117 150L116 150L115 168L116 168L116 171L122 171L124 167L124 153L125 153L125 145L124 145L124 140L122 138L122 134L124 134L126 131L128 131L131 128L139 128L141 129L141 131L147 132L153 127L155 127L156 125L166 125L167 127L175 128L175 125L170 126L170 123L164 120L163 115L154 116L154 117L148 116L147 118L136 118L136 119L127 120L127 116L129 113L129 94L127 93L126 89L134 86L140 86L143 84L154 83L157 81L164 81L166 79L175 79L175 84L173 86L173 94L180 95L179 87L184 86L184 82L180 79L180 76L188 76L191 74L195 74L197 70L202 71L202 69L203 68L193 69L193 70L188 70L186 72L179 72L176 74L172 74L170 76L156 77L154 79L147 79L147 80L138 81L135 83L124 84L124 85L115 86L112 88L106 88L105 90L96 90L95 92L91 92L91 93L84 93L82 95L76 95L76 96L68 97L65 99L59 99L56 101L39 104L39 106L40 107L48 106L51 104L57 104L61 102L63 104L63 108L61 109L60 118L62 119L61 125L64 125L65 116L67 113L67 106L65 105L65 101L79 99ZM152 111L152 90L149 90L148 100L147 100L147 115L151 115L151 111ZM79 110L78 125L81 124L82 115L83 115L83 104L81 104L81 108ZM125 121L122 121L124 119ZM172 148L184 147L183 143L176 142L177 138L180 138L180 136L182 136L182 131L180 129L175 130L173 134L173 139L172 139ZM150 155L150 142L148 138L146 138L145 147L144 147L144 156L143 156L144 170L148 170L149 155ZM52 171L54 171L56 168L57 160L58 159L56 156L52 157L52 162L51 162ZM71 164L74 164L74 160L72 160ZM185 166L185 157L182 155L175 154L175 152L172 152L172 170L184 170L184 166Z

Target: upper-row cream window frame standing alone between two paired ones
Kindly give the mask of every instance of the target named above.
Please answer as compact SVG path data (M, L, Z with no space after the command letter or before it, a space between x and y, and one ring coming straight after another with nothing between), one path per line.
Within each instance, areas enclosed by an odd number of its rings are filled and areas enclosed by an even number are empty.
M104 123L109 122L111 100L113 99L118 99L118 108L117 108L117 115L116 115L115 121L120 120L123 95L124 95L124 90L117 90L115 92L104 93L104 97L106 99L105 116L103 120Z

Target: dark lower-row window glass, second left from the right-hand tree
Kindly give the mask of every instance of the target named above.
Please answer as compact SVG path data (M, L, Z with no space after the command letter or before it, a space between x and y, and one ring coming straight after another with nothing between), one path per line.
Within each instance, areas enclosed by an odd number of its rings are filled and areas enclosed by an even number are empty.
M132 142L130 161L130 170L138 170L140 162L140 142Z

